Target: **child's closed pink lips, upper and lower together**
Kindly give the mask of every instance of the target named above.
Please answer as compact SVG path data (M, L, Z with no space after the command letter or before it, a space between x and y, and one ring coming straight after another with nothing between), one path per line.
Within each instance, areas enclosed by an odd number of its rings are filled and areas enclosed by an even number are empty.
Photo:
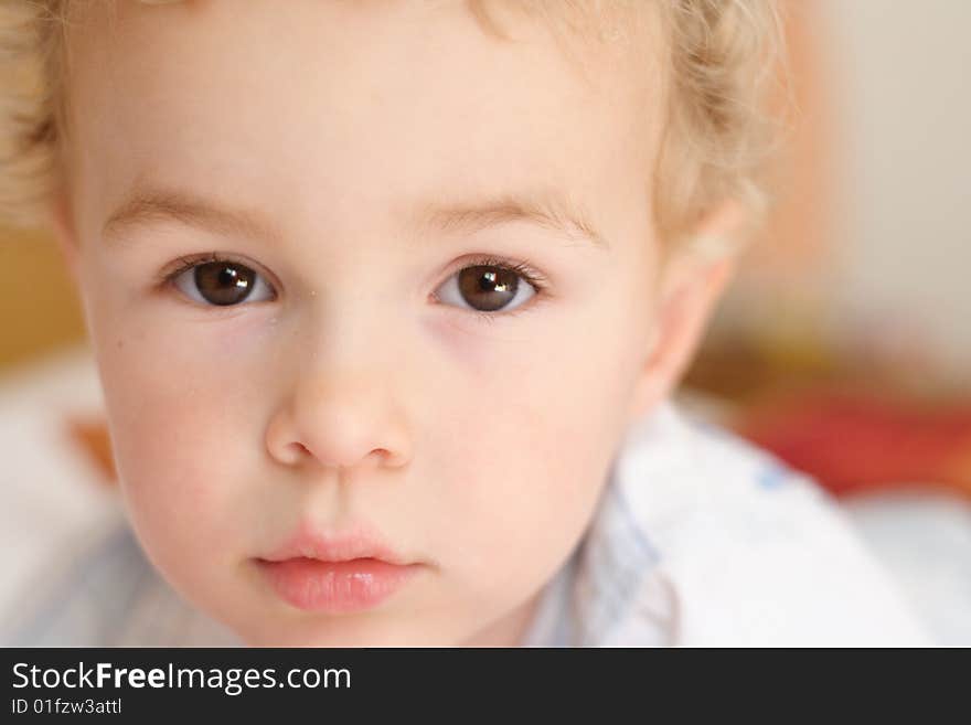
M373 609L422 568L363 527L331 536L302 526L256 564L280 599L327 614Z

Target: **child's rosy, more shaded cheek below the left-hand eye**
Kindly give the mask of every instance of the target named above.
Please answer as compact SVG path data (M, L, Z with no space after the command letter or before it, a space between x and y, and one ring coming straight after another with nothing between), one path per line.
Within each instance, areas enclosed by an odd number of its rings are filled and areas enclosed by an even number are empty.
M190 344L180 322L116 317L95 344L126 505L149 556L177 583L236 561L258 451L241 409L252 371L217 364L217 341Z

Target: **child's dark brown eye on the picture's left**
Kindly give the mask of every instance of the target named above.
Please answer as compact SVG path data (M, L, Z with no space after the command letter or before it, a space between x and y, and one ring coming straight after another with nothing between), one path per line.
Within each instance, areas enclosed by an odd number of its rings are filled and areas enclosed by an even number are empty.
M243 301L262 302L276 297L262 275L238 262L204 258L183 264L169 281L201 305L227 307ZM254 296L256 299L253 299Z

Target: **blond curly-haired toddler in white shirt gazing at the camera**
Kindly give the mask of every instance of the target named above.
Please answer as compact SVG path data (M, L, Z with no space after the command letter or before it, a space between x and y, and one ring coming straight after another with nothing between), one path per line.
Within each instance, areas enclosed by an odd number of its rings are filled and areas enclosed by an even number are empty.
M765 206L770 0L4 21L42 93L2 211L76 279L171 606L260 646L922 641L810 481L671 402Z

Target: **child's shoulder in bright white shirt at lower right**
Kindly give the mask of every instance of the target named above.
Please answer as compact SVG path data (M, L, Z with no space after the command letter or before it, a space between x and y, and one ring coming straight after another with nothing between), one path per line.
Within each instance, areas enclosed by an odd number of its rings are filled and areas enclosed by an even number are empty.
M654 550L643 586L695 644L922 644L849 516L809 477L673 404L631 431L615 471Z

